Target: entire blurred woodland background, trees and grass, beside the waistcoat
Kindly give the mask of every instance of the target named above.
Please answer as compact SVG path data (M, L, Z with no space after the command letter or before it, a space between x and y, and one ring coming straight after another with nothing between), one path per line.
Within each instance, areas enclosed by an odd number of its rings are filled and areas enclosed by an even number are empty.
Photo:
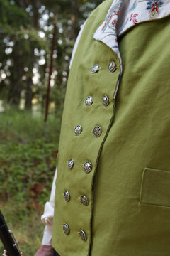
M101 2L0 0L0 209L23 255L34 255L42 240L72 48Z

